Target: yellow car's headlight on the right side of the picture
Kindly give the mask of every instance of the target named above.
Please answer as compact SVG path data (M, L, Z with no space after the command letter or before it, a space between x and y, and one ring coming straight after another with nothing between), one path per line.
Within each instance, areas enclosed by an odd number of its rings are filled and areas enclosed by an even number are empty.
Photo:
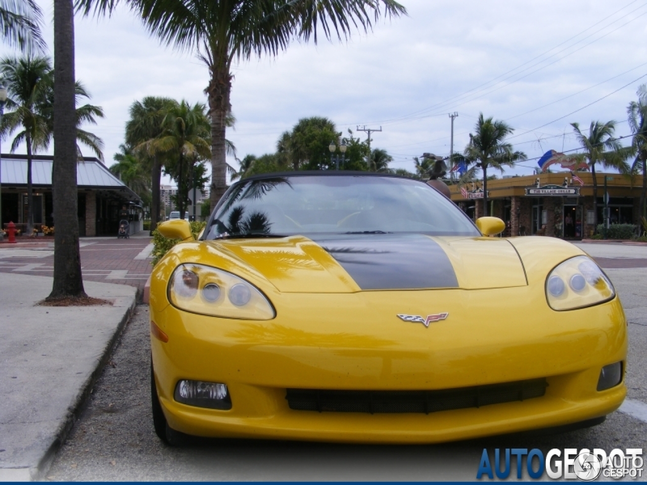
M587 256L567 259L546 279L546 298L553 310L591 307L613 297L611 281Z

